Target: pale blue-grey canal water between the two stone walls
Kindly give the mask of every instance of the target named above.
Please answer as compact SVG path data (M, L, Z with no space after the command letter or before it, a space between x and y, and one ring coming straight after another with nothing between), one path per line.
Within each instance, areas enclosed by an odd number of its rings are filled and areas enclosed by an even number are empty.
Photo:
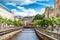
M39 40L33 29L23 29L18 35L11 40Z

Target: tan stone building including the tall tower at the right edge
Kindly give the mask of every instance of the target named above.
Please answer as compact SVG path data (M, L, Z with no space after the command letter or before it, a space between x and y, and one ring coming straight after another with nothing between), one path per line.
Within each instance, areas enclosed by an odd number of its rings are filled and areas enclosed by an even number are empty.
M52 16L54 17L60 16L60 0L54 0L54 11L45 9L45 17L52 17Z

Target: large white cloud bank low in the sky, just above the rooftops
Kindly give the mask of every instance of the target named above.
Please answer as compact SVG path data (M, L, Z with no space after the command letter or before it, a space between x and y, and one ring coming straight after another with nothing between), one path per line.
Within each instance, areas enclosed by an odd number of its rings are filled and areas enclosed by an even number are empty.
M17 11L16 9L12 9L11 11L14 12L15 15L20 16L34 16L36 14L42 14L45 11L45 8L42 8L40 12L36 12L34 9L25 9L24 7L18 7L22 9L22 11Z

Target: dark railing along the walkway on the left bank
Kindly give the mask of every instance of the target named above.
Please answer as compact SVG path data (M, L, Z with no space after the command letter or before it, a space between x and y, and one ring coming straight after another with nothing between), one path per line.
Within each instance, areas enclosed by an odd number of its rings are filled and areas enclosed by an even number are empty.
M2 30L0 30L0 36L2 36L4 34L8 34L8 33L13 32L13 31L20 30L20 29L22 29L22 27L8 27L5 29L2 29Z

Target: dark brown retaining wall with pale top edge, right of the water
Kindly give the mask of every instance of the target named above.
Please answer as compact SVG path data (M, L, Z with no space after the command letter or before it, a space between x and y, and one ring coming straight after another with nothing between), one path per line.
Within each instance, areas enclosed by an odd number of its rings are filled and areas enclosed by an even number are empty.
M41 40L58 40L58 39L55 39L49 35L46 35L46 34L40 32L37 29L35 29L35 31L36 31L36 34L38 35L38 37L41 38Z

